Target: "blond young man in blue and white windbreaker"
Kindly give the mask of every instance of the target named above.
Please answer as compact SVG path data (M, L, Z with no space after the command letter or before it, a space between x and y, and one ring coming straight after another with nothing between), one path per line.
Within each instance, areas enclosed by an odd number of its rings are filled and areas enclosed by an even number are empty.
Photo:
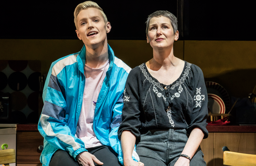
M119 166L123 158L117 130L131 68L108 45L111 26L98 4L79 4L74 17L84 46L50 67L38 123L44 136L40 161L43 166ZM133 159L139 160L135 151Z

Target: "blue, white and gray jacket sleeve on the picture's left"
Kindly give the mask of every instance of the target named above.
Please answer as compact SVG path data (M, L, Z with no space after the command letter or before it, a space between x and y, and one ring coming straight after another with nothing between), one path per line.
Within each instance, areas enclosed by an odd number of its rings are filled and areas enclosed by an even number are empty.
M87 150L83 141L72 135L67 126L65 89L52 68L53 64L45 82L44 108L38 122L38 131L51 146L69 151L76 159L79 153Z

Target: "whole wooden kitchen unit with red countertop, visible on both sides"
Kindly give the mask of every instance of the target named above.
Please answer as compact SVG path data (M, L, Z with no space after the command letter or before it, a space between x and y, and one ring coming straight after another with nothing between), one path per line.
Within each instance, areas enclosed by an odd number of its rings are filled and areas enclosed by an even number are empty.
M223 146L233 152L256 154L256 126L207 126L206 128L209 136L203 139L200 146L207 166L223 165ZM17 130L15 140L17 166L41 166L39 157L44 138L38 132L37 124L18 124L15 130Z

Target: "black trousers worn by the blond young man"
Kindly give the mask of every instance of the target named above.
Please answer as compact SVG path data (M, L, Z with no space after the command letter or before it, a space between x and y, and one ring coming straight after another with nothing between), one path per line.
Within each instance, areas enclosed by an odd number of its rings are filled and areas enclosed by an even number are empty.
M96 146L87 148L87 150L90 154L95 155L99 161L104 163L102 166L121 165L117 159L117 153L109 146ZM95 162L94 165L98 166ZM71 155L69 155L68 151L59 149L53 154L49 166L79 166L79 164Z

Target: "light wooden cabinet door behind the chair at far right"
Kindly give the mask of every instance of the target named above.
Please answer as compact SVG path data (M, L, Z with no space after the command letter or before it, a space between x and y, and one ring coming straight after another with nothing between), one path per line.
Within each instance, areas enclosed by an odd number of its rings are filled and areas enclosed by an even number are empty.
M214 133L214 165L223 165L222 147L229 151L256 154L256 133Z

